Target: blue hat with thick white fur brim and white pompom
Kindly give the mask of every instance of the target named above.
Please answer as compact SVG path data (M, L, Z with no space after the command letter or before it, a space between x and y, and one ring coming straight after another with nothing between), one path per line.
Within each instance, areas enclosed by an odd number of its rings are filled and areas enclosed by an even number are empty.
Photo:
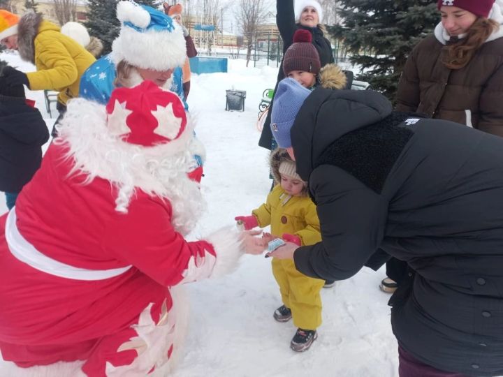
M112 44L112 59L132 66L167 71L183 66L187 48L180 26L171 17L133 1L117 3L119 36Z

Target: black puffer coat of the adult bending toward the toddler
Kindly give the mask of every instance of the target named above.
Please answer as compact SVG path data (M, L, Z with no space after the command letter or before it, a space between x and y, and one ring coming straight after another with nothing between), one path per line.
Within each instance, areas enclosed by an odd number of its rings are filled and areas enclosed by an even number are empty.
M502 375L503 138L328 89L291 138L323 238L296 251L298 270L347 279L378 249L407 261L415 274L391 300L400 345L437 369Z

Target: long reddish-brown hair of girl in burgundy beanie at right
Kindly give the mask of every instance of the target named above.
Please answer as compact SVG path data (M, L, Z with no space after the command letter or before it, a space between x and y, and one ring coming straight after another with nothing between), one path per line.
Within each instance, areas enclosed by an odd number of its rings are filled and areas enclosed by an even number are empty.
M477 50L483 45L500 24L486 17L479 17L467 31L467 36L458 42L444 47L442 63L450 69L460 69L468 64Z

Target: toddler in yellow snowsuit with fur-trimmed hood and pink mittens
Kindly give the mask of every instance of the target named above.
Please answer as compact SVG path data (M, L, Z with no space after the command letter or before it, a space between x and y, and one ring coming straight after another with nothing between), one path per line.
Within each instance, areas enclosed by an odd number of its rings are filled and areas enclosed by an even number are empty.
M272 235L264 235L267 242L279 237L299 246L321 242L316 205L307 195L307 182L296 173L296 164L286 149L273 151L270 165L277 184L266 202L254 209L251 216L237 216L235 220L245 230L270 225ZM318 337L316 329L321 325L320 290L325 281L298 272L293 260L273 258L272 274L279 285L283 302L273 316L279 322L293 318L298 330L290 347L297 352L305 351Z

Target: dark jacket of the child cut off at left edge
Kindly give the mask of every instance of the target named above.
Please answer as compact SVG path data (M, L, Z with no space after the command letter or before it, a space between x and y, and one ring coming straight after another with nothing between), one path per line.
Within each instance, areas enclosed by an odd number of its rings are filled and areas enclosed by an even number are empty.
M49 131L24 98L0 95L0 191L18 192L42 161Z

